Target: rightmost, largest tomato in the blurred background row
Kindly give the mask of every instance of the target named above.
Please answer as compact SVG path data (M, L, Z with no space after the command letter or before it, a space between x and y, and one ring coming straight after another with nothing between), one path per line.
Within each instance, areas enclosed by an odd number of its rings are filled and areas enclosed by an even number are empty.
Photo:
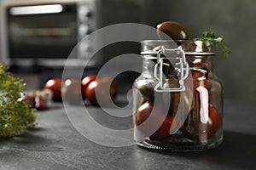
M110 89L109 89L110 87ZM85 97L90 101L92 105L98 105L96 99L96 93L101 96L101 104L108 104L111 99L114 99L117 95L117 85L112 79L108 77L100 78L98 81L90 82L89 86L85 89Z

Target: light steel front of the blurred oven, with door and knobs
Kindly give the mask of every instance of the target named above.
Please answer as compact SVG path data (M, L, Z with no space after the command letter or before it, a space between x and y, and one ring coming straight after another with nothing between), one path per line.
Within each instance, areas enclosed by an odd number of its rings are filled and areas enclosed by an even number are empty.
M3 62L8 65L65 65L75 45L98 27L96 0L3 2ZM69 65L88 59L96 44L83 42ZM90 60L91 65L99 63Z

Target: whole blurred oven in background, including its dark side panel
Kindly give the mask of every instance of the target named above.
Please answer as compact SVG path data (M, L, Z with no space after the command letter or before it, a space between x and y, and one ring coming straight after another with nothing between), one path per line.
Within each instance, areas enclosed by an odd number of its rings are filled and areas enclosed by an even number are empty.
M80 42L103 26L117 23L144 23L148 0L0 0L0 62L7 65L63 66L78 44L76 56L68 65L81 65L102 42ZM146 10L147 9L147 10ZM149 10L150 11L150 10ZM151 12L149 13L151 14ZM151 17L149 17L151 18ZM90 59L98 67L114 54L127 52L113 46L103 48ZM137 48L136 48L137 49ZM130 50L132 51L133 48ZM113 54L113 52L115 52Z

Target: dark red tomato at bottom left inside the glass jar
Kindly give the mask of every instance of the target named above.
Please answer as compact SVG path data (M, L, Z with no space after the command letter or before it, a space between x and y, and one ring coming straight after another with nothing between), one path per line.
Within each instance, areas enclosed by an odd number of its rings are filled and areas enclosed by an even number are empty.
M154 114L152 112L153 107L154 111L156 111ZM148 116L150 116L151 114L153 114L152 119L150 118L150 120L145 122L148 119ZM135 124L137 126L137 130L139 130L144 137L149 137L150 139L155 140L165 139L170 135L169 131L172 126L172 121L172 116L164 116L161 105L154 105L151 102L146 102L141 105L135 114ZM145 122L146 124L143 124L143 127L138 127L143 122ZM161 123L160 127L154 127L159 123ZM151 132L154 133L152 134Z

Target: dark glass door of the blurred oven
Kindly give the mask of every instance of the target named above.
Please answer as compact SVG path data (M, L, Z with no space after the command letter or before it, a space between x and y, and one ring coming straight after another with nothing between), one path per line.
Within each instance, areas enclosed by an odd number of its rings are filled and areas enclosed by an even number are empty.
M77 43L76 4L61 5L59 11L49 13L42 8L41 14L22 14L17 9L8 9L10 58L68 57Z

